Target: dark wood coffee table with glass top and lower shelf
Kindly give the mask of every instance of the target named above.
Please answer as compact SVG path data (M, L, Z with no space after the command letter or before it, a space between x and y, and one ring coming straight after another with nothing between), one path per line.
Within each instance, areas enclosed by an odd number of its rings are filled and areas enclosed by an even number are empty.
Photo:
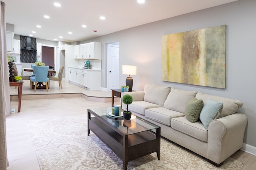
M160 127L134 115L125 120L109 112L111 107L88 109L88 136L92 131L113 150L123 160L124 170L129 161L153 152L160 160Z

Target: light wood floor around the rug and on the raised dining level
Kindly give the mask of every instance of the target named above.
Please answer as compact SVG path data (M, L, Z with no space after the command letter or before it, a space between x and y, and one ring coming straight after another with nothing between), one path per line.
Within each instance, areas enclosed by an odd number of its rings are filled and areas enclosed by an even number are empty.
M24 95L22 95L22 99L24 98L25 100L22 100L21 112L15 112L6 117L7 153L10 164L7 168L8 170L40 170L28 132L28 121L66 115L79 115L86 113L88 108L111 106L111 100L109 102L108 100L105 100L106 102L98 102L94 98L86 100L82 97L77 97L75 94L80 92L88 96L110 98L111 92L89 91L65 82L62 82L63 89L59 89L58 82L55 82L57 81L51 81L48 93L56 94L56 96L62 94L62 97L54 98L54 96L49 95L50 97L47 98L47 95L44 95L46 93L45 89L38 89L34 92L34 90L30 90L29 86L26 88L27 84L29 85L29 80L24 82L22 90ZM10 87L11 95L16 94L16 91L14 87ZM31 97L31 95L35 94L37 94L36 98ZM24 97L26 95L27 97ZM41 96L44 97L42 98ZM29 98L32 98L32 100L29 100ZM120 100L115 101L115 105L120 104ZM18 102L11 102L11 108L15 108L18 111ZM232 155L232 158L244 164L242 170L256 169L256 156L238 151Z

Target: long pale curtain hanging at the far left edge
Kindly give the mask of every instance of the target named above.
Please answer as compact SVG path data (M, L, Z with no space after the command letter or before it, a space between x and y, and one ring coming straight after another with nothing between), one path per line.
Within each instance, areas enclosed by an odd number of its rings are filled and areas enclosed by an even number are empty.
M1 2L0 9L0 170L9 166L6 149L5 117L10 115L10 85L9 68L6 47L5 3Z

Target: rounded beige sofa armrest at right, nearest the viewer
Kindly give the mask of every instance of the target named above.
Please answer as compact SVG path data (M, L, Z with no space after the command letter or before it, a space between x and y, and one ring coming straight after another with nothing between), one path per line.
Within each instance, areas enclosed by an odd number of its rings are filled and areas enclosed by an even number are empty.
M244 113L234 113L213 120L208 128L207 158L220 164L241 149L247 121Z

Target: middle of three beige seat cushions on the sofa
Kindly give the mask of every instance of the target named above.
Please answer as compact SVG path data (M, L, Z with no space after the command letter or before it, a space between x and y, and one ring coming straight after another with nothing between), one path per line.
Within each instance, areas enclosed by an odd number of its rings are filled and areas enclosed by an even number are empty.
M152 108L145 110L145 117L170 126L171 119L174 117L185 116L183 113L166 109L164 107Z

